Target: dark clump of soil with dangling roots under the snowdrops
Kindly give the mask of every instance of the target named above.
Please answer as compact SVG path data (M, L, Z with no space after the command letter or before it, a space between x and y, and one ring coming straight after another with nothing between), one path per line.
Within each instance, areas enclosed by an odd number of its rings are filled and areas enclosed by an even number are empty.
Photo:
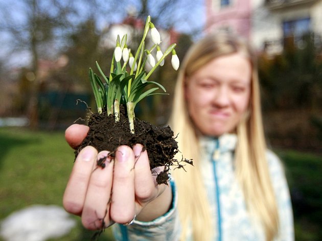
M169 126L153 126L148 122L135 118L135 133L131 134L125 108L121 106L120 109L120 122L118 123L115 122L114 115L107 116L106 112L101 114L90 113L87 124L89 131L86 138L75 151L76 156L82 148L93 146L99 152L104 150L110 151L110 156L113 158L115 151L121 145L132 148L137 143L142 144L147 150L151 170L158 166L165 167L163 172L156 174L158 184L167 184L170 166L183 168L185 163L192 164L192 160L183 159L183 157L179 161L174 159L174 155L178 153L178 144ZM98 165L100 165L99 161Z

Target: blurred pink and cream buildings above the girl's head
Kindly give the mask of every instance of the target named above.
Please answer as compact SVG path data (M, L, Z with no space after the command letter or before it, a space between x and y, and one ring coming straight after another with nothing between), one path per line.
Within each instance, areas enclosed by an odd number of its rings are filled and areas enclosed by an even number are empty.
M284 42L298 47L304 33L321 44L322 0L206 0L207 33L229 31L244 36L259 51L277 54Z

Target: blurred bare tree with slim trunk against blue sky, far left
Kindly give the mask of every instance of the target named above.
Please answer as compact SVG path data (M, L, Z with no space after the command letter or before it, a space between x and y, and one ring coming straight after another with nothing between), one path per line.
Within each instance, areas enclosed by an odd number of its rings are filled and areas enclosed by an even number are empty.
M29 102L27 115L32 128L38 125L39 59L59 53L66 44L65 36L73 32L79 22L95 14L108 12L106 6L100 8L100 5L98 1L85 0L20 0L1 3L0 31L8 40L5 53L7 59L14 55L18 58L27 56L28 67L35 77L31 81L30 99L26 100ZM113 7L112 4L108 6Z

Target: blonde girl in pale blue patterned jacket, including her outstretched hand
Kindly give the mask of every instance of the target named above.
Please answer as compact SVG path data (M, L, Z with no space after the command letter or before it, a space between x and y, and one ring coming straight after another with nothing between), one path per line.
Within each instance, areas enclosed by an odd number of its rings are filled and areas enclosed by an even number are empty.
M89 229L117 223L117 240L293 240L289 191L279 159L266 149L256 62L247 44L229 35L194 44L174 98L177 159L192 158L194 166L174 170L169 185L155 185L140 145L119 147L114 162L107 159L95 172L107 152L87 147L68 181L65 209L81 215ZM76 147L87 131L73 125L66 140Z

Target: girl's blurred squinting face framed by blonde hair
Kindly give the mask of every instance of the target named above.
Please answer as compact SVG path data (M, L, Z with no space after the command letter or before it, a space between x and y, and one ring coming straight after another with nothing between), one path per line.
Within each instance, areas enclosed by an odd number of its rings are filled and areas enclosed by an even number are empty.
M248 109L250 80L251 65L240 53L215 58L186 80L188 111L202 134L235 130Z

